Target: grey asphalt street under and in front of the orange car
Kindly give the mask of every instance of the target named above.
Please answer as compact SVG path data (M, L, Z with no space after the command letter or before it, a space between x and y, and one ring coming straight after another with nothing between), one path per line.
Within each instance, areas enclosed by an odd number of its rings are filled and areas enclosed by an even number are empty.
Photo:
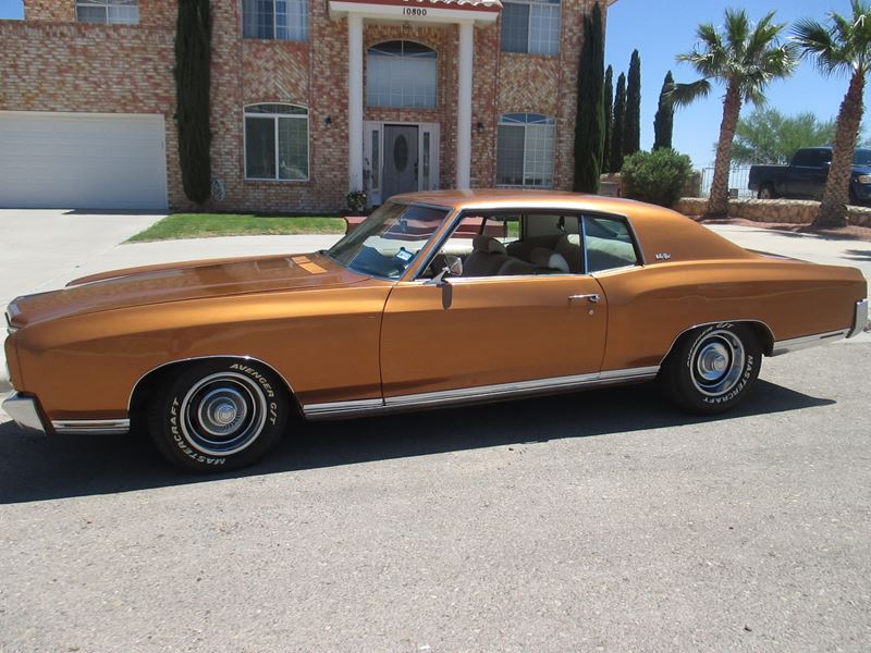
M0 651L864 652L869 370L320 423L220 478L0 424Z

